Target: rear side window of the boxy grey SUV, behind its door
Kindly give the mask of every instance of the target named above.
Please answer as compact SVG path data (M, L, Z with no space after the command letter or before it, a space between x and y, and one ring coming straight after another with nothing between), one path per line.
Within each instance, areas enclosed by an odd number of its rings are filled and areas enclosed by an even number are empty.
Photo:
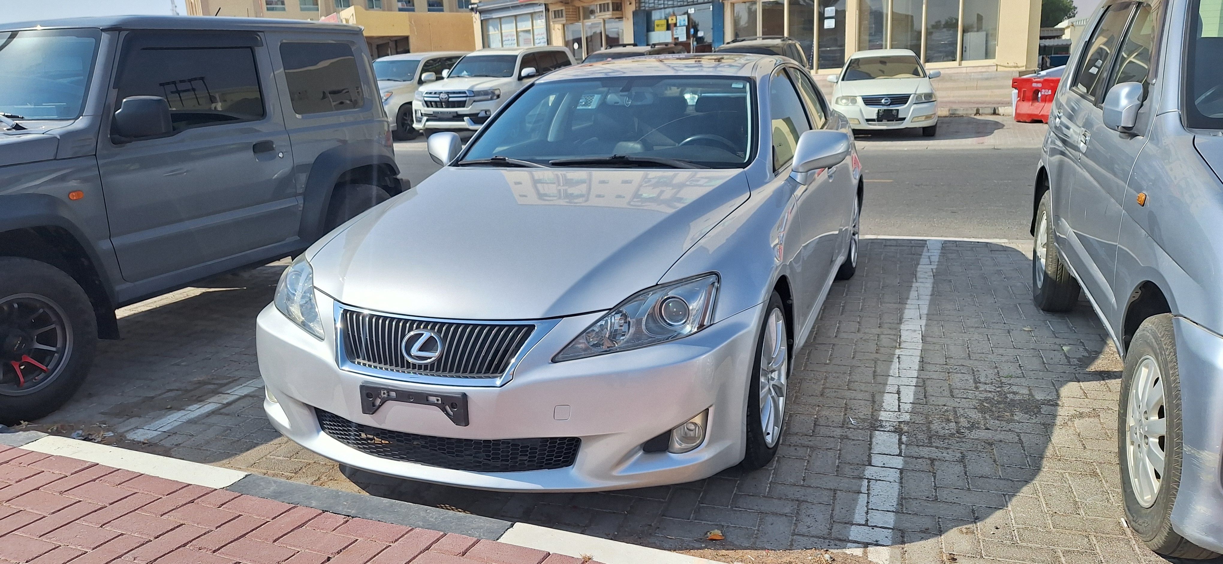
M347 43L281 43L289 99L298 115L353 110L364 104L357 59Z

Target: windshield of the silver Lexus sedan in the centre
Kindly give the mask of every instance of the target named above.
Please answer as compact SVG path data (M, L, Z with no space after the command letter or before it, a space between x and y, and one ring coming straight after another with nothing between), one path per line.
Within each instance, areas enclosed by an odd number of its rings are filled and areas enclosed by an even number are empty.
M537 83L486 126L464 160L737 168L748 162L755 146L752 106L752 83L744 78Z

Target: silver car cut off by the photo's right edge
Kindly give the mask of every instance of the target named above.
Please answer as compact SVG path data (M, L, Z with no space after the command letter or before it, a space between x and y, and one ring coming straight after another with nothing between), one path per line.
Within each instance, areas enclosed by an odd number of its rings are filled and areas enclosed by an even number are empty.
M1125 522L1168 557L1223 553L1219 4L1107 1L1053 100L1032 199L1032 293L1080 289L1124 358ZM1158 78L1158 79L1156 79Z

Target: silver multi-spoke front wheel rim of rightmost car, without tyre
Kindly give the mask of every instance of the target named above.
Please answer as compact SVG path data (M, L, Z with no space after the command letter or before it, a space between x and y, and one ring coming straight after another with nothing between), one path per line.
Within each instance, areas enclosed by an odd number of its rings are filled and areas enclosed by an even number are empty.
M1130 488L1139 504L1155 505L1163 480L1168 419L1164 410L1163 376L1159 363L1142 356L1134 371L1125 408L1125 461Z

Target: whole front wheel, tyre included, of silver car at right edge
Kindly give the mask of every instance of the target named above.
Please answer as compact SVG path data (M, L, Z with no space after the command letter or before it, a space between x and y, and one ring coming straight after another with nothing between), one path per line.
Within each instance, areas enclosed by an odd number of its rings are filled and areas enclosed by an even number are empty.
M1205 559L1218 554L1172 530L1172 505L1180 486L1180 371L1172 314L1139 326L1121 372L1117 438L1121 497L1130 529L1159 554Z

